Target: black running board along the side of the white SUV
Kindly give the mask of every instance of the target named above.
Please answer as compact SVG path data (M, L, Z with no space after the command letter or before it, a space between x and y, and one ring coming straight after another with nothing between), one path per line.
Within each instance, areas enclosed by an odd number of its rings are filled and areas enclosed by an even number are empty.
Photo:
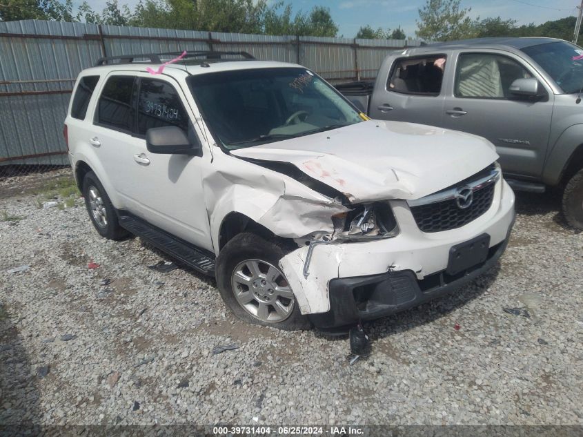
M141 237L192 269L205 275L215 275L215 255L213 253L170 235L134 215L129 215L126 211L118 211L118 214L119 224L132 234Z

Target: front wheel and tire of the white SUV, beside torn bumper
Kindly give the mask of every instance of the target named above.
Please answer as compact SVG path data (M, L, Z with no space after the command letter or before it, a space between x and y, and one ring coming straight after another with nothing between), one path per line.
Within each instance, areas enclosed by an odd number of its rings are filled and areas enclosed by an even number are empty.
M312 327L279 269L284 255L279 244L253 233L240 233L221 249L217 285L237 318L286 331Z

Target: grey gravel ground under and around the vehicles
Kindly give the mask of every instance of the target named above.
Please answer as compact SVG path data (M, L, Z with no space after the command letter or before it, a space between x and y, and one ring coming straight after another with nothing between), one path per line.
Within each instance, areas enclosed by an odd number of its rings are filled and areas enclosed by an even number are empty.
M99 237L82 200L39 209L14 186L0 183L0 211L24 216L0 222L0 423L583 425L583 234L556 195L518 195L499 266L368 324L372 353L350 366L346 337L235 320L213 280ZM238 349L213 355L224 344Z

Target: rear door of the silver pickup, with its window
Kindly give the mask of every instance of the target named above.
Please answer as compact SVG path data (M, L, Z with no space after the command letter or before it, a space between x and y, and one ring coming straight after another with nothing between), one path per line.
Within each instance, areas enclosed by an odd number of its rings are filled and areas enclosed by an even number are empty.
M439 126L448 64L444 52L397 57L379 70L379 76L386 80L377 82L368 115L373 119Z

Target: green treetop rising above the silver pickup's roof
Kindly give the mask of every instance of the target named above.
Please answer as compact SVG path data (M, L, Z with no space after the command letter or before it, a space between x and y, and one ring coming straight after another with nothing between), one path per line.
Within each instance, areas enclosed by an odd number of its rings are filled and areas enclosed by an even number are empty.
M476 35L476 21L468 17L471 8L460 9L461 0L426 0L419 9L415 35L429 41L448 41L472 38Z

